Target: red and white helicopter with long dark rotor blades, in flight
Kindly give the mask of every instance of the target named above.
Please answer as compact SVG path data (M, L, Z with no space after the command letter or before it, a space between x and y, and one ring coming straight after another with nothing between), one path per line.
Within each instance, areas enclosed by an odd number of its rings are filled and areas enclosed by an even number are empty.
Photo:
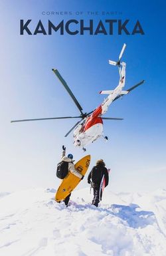
M83 113L82 107L78 103L78 100L76 100L74 94L66 84L65 80L62 78L60 73L57 69L52 69L54 74L58 77L60 82L62 82L64 88L66 88L67 92L70 94L72 100L74 100L74 103L78 107L78 110L80 110L80 116L63 116L63 117L52 117L52 118L35 118L35 119L25 119L25 120L12 120L11 122L25 122L25 121L36 121L36 120L52 120L52 119L63 119L63 118L81 118L76 124L67 132L65 135L68 136L72 130L73 136L74 136L74 146L78 148L82 148L84 151L85 146L90 144L91 142L94 142L98 138L103 137L105 140L108 140L107 136L103 136L103 120L123 120L123 118L108 118L108 117L102 117L108 110L108 107L110 104L117 100L118 98L122 97L125 94L128 94L131 92L131 90L135 89L140 84L143 84L144 80L139 82L138 84L135 84L135 86L132 86L131 88L127 90L123 90L125 85L125 66L126 64L124 62L121 62L122 55L124 53L126 45L122 47L122 51L120 53L118 61L110 61L109 64L112 64L114 66L118 66L119 74L120 74L120 80L118 86L114 90L102 90L100 94L109 94L109 96L104 99L104 102L98 108L95 110L89 112L89 113Z

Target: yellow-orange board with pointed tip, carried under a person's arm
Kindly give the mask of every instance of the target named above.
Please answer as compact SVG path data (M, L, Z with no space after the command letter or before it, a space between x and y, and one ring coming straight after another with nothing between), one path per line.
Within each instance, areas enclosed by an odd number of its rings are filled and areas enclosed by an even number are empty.
M90 155L84 156L84 158L80 159L75 165L74 168L80 172L80 174L85 175L88 167L90 165ZM61 201L64 198L66 198L69 193L76 188L78 183L80 182L80 178L76 177L71 172L68 172L68 175L62 180L62 183L60 184L56 195L55 200Z

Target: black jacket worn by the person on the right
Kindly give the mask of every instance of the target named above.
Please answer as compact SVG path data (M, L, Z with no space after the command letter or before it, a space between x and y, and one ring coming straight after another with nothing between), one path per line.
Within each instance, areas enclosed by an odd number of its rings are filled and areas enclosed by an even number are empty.
M106 186L108 186L109 178L108 178L108 170L103 165L98 164L97 166L94 166L88 175L88 183L90 181L94 182L94 184L100 186L100 183L102 181L102 177L106 179Z

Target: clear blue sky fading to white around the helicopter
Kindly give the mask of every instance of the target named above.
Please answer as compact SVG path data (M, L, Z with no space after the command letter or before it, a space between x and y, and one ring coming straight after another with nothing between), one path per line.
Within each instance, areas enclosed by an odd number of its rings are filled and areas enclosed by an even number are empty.
M57 188L56 164L62 144L77 161L84 152L74 148L72 134L64 134L76 122L48 120L13 123L13 119L78 115L62 84L52 73L58 68L80 102L84 112L96 108L104 95L118 84L118 70L108 64L116 60L122 45L126 67L125 88L145 79L145 84L122 100L116 100L106 116L124 118L105 121L102 139L87 146L92 162L102 158L112 169L113 191L142 191L165 188L165 1L0 1L0 191L29 187ZM42 11L62 11L62 15L42 15ZM64 15L64 11L71 11ZM98 11L98 15L88 15ZM102 15L102 11L110 14ZM82 14L76 15L76 12ZM111 14L114 12L114 14ZM115 13L117 12L117 14ZM32 19L35 30L39 19L129 19L129 31L139 20L145 35L20 35L20 20ZM84 178L79 188L87 186Z

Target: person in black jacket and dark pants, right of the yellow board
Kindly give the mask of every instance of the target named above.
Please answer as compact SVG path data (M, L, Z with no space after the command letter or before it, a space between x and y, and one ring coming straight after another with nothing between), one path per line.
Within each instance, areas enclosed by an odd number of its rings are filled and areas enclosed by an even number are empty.
M100 189L100 184L102 178L106 179L106 186L108 186L109 178L108 178L108 170L105 167L106 164L103 160L98 160L96 162L96 166L94 166L88 175L88 184L91 184L94 189L94 198L92 200L92 204L98 207L98 203L102 200L102 190Z

